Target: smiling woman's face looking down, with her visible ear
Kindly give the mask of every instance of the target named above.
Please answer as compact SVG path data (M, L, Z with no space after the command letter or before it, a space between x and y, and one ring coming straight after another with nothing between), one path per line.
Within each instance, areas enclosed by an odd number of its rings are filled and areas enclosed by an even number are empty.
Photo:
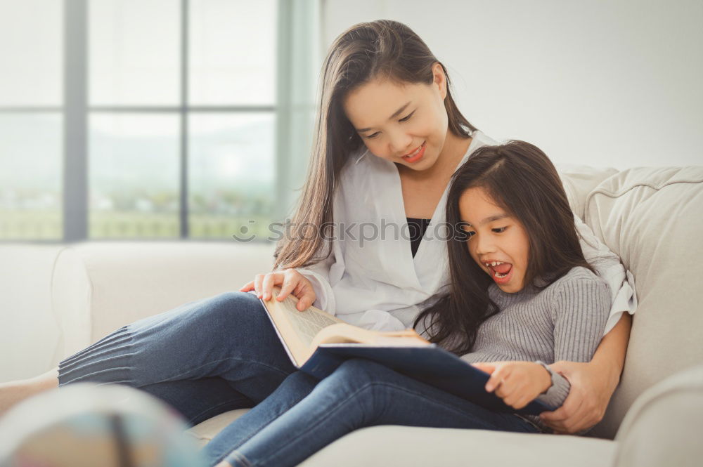
M437 162L448 128L446 80L439 63L432 72L432 84L376 79L344 99L344 113L375 156L417 171Z

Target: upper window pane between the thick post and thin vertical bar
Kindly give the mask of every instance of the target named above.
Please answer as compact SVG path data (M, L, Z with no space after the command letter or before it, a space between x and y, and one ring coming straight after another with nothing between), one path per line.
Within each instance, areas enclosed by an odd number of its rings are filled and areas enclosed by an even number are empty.
M180 1L89 1L92 105L179 102Z

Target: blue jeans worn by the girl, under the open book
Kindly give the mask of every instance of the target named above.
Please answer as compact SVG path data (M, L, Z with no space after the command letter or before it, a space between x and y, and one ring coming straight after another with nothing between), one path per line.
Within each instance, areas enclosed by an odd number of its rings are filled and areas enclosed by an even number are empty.
M370 360L347 360L322 381L295 371L203 448L210 465L296 466L353 430L405 425L541 433ZM233 450L234 449L234 450Z

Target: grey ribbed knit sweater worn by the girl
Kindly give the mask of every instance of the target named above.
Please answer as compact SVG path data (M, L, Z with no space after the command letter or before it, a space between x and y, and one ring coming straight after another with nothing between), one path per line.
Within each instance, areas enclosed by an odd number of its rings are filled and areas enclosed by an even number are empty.
M573 268L539 293L525 287L507 294L491 284L489 296L501 311L481 324L472 351L461 357L470 363L588 362L610 315L606 282L581 267ZM569 386L563 376L552 372L552 386L537 400L559 407L569 394ZM524 417L544 432L552 431L538 416Z

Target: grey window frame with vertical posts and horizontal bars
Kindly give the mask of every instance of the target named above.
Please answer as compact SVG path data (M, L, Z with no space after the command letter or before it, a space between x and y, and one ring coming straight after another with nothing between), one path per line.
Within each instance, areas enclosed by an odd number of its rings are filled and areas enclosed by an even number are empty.
M179 0L180 34L179 53L181 74L179 105L174 106L139 106L139 105L89 105L88 103L88 2L89 0L63 0L63 105L59 106L1 106L0 112L58 112L63 115L63 195L61 217L63 218L63 236L58 239L0 239L0 244L33 243L63 244L72 242L163 242L163 241L198 241L231 242L228 238L192 238L188 230L188 116L198 112L273 112L275 115L275 154L276 199L278 211L273 213L276 220L285 217L285 206L290 204L290 193L286 183L290 178L289 142L290 104L292 88L286 84L286 77L295 72L295 62L290 57L292 35L293 6L289 1L278 0L278 24L276 27L276 102L273 105L188 105L188 35L190 18L189 0ZM313 8L307 13L317 13ZM299 19L299 18L298 18ZM168 113L179 115L179 236L172 238L99 238L89 237L89 180L88 180L88 121L92 112L129 112L129 113ZM261 240L261 239L259 239Z

